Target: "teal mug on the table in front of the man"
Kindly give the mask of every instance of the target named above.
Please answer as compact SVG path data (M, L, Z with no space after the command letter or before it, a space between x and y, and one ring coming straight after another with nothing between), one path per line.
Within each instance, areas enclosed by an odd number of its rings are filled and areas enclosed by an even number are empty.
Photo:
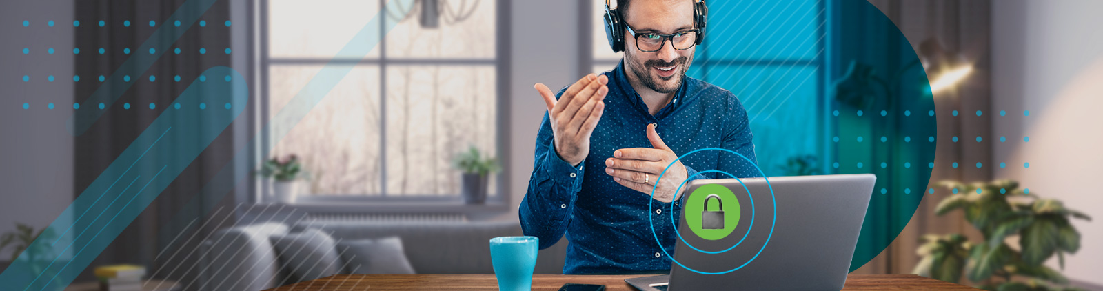
M532 290L539 238L532 236L490 239L490 258L501 291Z

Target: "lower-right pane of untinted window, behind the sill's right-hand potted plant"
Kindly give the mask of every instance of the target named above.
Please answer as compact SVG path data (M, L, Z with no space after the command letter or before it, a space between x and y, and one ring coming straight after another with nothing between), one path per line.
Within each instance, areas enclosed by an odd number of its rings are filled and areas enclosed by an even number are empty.
M494 66L388 66L387 194L457 195L452 158L497 155ZM493 194L492 176L489 193Z

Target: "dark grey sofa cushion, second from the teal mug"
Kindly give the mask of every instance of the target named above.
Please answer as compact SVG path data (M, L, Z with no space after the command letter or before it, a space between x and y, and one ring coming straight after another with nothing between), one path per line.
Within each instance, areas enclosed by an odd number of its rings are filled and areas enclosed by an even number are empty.
M283 268L297 281L314 280L341 272L341 258L330 235L313 228L271 236L272 246Z

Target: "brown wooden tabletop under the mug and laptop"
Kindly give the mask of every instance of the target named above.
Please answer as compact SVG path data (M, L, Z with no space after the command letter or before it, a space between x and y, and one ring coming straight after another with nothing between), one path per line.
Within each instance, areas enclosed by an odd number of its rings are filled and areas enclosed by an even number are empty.
M647 274L650 276L650 274ZM537 274L533 290L559 290L564 283L603 284L609 291L635 290L624 279L635 276ZM290 290L497 290L493 274L334 274L269 289ZM843 290L978 290L914 274L852 274Z

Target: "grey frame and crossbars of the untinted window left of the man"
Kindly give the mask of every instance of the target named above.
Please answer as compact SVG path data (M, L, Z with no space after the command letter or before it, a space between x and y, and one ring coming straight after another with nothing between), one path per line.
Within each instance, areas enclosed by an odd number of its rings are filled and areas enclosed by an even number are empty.
M377 0L379 2L381 11L386 6L387 0ZM269 74L270 68L280 65L324 65L330 63L336 64L347 64L347 65L374 65L375 69L379 72L379 108L381 108L381 126L379 126L379 157L381 159L381 195L357 195L357 194L311 194L311 195L300 195L291 206L297 208L303 208L312 212L342 212L342 213L401 213L401 212L426 212L426 213L457 213L457 212L484 212L488 208L493 209L505 209L510 205L510 100L506 93L510 90L510 0L493 0L484 1L483 3L490 3L495 6L494 10L494 56L492 58L426 58L426 57L403 57L403 58L389 58L386 54L386 33L384 28L381 26L381 35L383 39L379 40L377 47L379 47L379 55L372 58L326 58L326 57L271 57L269 54L269 2L270 0L254 0L253 17L256 20L255 28L250 30L254 34L253 39L256 41L255 57L254 62L256 64L257 76L259 76L259 85L256 86L256 99L258 101L253 103L254 112L256 112L255 122L251 128L251 133L254 137L259 137L259 141L256 142L254 148L254 159L255 161L264 161L268 157L261 155L261 153L270 153L272 144L270 144L269 132L264 130L264 126L270 120L268 112L268 100L269 100ZM387 126L386 126L386 107L387 99L387 66L411 66L411 65L440 65L440 66L484 66L493 67L495 72L495 157L501 164L501 171L494 174L495 190L496 192L486 197L486 202L483 205L467 205L463 202L463 197L460 193L454 195L438 195L438 194L407 194L407 195L388 195L387 193ZM260 179L257 176L250 177L253 181L253 193L250 193L250 198L257 204L272 204L277 203L272 197L267 197L266 193L270 192L270 183L266 179ZM489 193L490 194L490 193Z

